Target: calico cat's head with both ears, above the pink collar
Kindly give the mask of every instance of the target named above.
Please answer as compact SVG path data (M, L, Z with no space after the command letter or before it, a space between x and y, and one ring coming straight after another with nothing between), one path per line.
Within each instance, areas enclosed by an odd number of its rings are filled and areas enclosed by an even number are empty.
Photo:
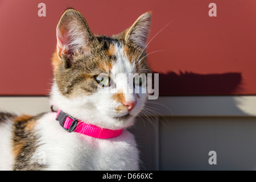
M151 73L145 50L150 23L145 13L121 34L98 36L78 11L66 10L56 29L51 104L99 127L132 125L148 96L142 89Z

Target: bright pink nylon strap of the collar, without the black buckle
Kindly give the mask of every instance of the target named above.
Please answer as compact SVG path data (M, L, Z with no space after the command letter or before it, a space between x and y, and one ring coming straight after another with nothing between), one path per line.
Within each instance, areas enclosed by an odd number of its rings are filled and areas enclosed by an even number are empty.
M60 114L60 111L61 111L60 109L57 111L56 117ZM63 127L65 129L69 129L72 122L73 122L73 119L67 116L67 118L63 123ZM88 135L94 138L114 138L121 135L123 131L122 129L121 130L102 129L100 127L90 125L81 121L78 121L75 127L76 127L76 129L74 130L75 132Z

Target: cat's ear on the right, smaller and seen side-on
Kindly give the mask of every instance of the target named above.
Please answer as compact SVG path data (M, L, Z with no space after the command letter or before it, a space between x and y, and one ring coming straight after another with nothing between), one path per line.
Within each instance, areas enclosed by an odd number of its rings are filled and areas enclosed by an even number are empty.
M144 13L126 30L125 41L137 44L144 48L147 44L147 37L150 31L151 13Z

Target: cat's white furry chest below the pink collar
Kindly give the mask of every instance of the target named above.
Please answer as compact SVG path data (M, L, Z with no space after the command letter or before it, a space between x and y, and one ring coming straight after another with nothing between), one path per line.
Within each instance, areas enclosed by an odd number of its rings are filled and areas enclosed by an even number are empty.
M138 150L129 131L115 138L96 139L61 129L52 114L36 126L40 134L38 159L47 169L57 170L137 170Z

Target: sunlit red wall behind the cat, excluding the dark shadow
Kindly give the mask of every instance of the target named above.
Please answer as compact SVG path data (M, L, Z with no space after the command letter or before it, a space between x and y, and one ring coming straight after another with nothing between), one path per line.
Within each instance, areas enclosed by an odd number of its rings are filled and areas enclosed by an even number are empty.
M46 3L46 17L38 4ZM217 5L210 17L209 3ZM152 11L148 45L161 95L255 95L256 1L0 1L0 95L46 95L61 14L71 6L94 34L117 34ZM149 39L149 40L150 40ZM164 51L163 51L164 50Z

